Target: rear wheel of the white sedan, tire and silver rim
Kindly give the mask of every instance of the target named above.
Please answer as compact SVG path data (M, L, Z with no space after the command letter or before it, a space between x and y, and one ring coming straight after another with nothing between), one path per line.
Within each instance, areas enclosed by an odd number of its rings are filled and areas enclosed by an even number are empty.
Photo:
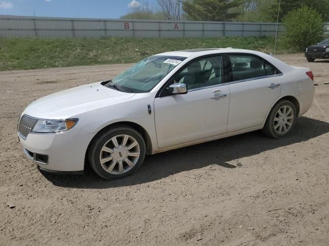
M296 119L297 112L295 105L289 100L281 100L272 108L267 116L263 133L272 138L286 137L293 131Z

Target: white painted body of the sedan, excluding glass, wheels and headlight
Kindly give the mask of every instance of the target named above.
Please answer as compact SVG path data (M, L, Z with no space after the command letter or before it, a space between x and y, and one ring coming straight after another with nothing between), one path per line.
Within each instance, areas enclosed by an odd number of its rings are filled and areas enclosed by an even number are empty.
M200 56L227 53L261 57L281 73L191 90L187 94L157 97L168 79L189 61ZM47 155L47 163L36 160L34 156L39 167L47 171L83 171L90 141L100 130L117 122L128 122L137 128L145 139L147 154L156 154L262 129L271 108L282 98L295 100L298 117L312 105L314 84L306 74L310 70L289 66L261 52L227 48L159 55L187 58L150 92L125 93L99 82L54 93L30 104L22 116L78 118L79 121L61 133L30 132L26 139L19 134L27 156L33 159L33 153ZM271 84L279 86L269 88ZM225 97L212 99L218 93Z

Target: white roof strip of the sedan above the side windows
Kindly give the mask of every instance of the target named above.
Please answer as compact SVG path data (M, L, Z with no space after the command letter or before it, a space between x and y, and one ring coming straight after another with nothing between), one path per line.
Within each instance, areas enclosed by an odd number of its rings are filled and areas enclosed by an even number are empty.
M227 52L241 52L241 53L250 53L258 54L258 51L253 50L244 50L244 49L233 49L229 48L207 48L207 49L191 49L191 50L178 50L178 51L169 51L160 53L157 55L167 55L167 56L181 56L181 57L190 57L190 56L201 56L209 54L218 54L218 53L227 53Z

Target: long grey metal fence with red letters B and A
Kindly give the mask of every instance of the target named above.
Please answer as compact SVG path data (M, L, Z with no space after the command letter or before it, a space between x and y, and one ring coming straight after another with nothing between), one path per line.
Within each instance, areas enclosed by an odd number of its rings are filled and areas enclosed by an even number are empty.
M275 36L276 23L176 22L0 15L6 37L218 37ZM282 27L279 26L279 31Z

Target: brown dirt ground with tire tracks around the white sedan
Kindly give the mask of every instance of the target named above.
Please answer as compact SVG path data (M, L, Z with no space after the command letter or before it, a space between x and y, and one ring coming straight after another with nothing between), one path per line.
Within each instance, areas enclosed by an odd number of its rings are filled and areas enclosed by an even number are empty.
M16 124L34 99L129 65L0 72L0 245L329 245L329 63L279 58L312 68L318 84L291 136L148 156L116 181L40 173Z

